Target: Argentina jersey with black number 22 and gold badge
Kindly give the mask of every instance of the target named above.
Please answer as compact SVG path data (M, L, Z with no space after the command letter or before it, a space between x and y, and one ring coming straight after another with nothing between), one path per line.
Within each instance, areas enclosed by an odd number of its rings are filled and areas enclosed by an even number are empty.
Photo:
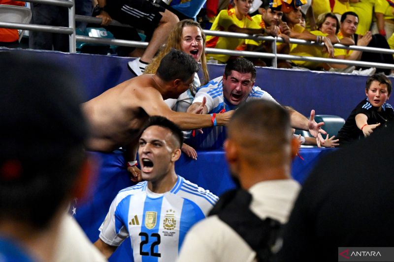
M218 197L178 175L171 191L151 192L146 181L121 190L99 237L119 246L128 236L135 262L172 262L189 229L205 218Z

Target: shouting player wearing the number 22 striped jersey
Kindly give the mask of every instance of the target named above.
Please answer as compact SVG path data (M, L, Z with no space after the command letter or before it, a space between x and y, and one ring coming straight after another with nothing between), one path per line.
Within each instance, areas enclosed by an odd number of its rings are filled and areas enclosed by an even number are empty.
M182 132L162 116L150 118L138 155L143 182L121 190L95 245L109 258L131 237L135 262L173 262L187 231L205 218L218 197L175 174Z

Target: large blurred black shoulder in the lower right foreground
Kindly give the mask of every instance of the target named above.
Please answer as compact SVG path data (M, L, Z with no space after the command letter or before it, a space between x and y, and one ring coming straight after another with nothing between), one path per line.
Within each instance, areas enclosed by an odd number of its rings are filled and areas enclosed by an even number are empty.
M279 262L331 262L346 249L353 257L394 246L394 126L374 133L316 165L285 228Z

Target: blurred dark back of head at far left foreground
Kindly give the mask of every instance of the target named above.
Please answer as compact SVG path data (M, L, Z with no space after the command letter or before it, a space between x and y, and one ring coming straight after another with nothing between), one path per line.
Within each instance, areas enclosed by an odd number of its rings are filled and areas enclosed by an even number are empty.
M70 64L0 52L0 217L45 228L85 159L88 131Z

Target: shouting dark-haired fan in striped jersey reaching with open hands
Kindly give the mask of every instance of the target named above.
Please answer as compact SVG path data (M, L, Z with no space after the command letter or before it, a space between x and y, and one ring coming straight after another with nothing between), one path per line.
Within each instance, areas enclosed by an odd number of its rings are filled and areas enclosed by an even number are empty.
M253 63L245 58L236 58L227 63L223 76L215 78L205 86L200 87L188 112L196 110L205 97L206 103L202 114L211 114L213 127L204 128L203 133L196 134L195 137L188 141L188 144L196 149L220 148L226 139L226 128L216 126L216 114L235 110L242 103L252 99L264 99L277 103L269 93L263 91L260 87L254 86L255 80L256 67ZM324 122L316 123L314 110L311 111L309 120L292 109L289 110L289 114L293 128L309 130L316 138L319 147L321 143L324 144L324 139L321 135L326 134L326 131L321 129Z

